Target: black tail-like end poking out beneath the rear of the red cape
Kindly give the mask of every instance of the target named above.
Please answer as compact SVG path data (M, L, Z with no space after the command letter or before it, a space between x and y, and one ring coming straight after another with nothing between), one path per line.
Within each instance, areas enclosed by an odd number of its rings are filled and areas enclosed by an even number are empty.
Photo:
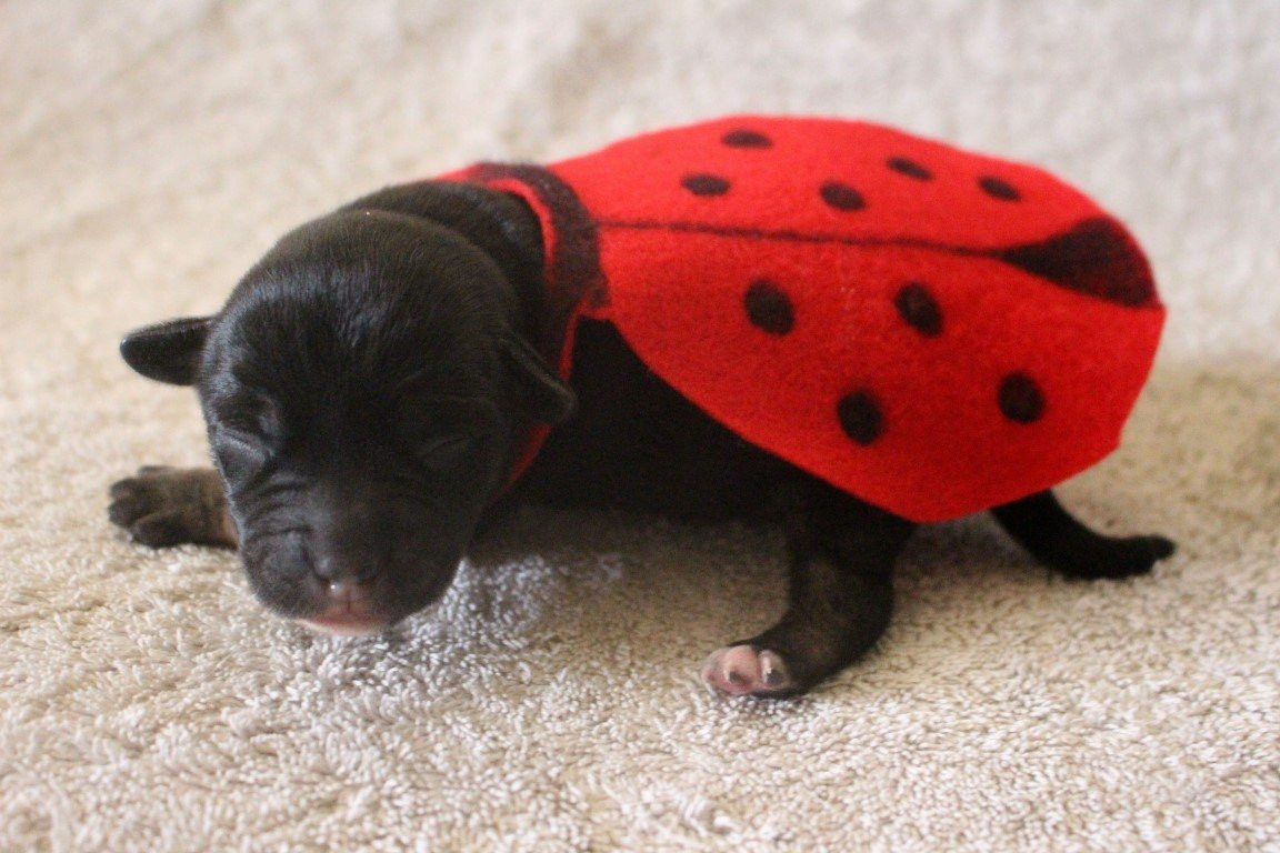
M1073 578L1146 574L1174 552L1164 536L1103 536L1071 517L1051 491L991 510L1009 535L1046 565Z

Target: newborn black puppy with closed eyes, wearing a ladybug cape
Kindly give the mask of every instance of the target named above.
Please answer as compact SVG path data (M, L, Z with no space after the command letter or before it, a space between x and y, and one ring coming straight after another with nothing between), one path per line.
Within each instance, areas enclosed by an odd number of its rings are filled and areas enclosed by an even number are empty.
M151 379L196 385L218 471L143 468L110 518L155 547L239 546L275 613L378 632L444 592L477 531L521 504L617 506L785 526L781 620L714 652L728 693L803 692L884 630L914 524L754 448L584 321L572 389L531 339L547 312L525 202L430 182L362 198L287 235L214 317L122 344ZM511 483L538 425L541 451ZM993 510L1032 554L1083 578L1147 572L1158 536L1101 536L1050 492Z

